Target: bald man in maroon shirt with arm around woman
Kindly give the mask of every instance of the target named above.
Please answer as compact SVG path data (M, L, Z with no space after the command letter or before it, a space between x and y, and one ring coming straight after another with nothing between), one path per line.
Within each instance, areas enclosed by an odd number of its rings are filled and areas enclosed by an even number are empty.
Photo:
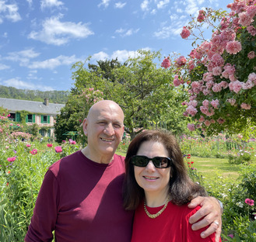
M37 197L25 241L120 241L132 236L133 213L122 207L124 158L114 154L124 133L124 112L109 100L96 102L83 123L88 144L52 164ZM204 237L221 227L216 199L198 197L191 207L202 209L191 217L192 226ZM218 228L219 225L219 228Z

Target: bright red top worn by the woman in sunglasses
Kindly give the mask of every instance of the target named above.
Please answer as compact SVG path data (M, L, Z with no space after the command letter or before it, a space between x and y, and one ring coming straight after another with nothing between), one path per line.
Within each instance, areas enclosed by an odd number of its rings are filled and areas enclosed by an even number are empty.
M149 213L155 214L163 206L150 208L147 206ZM142 241L168 241L168 242L214 242L215 233L209 237L202 239L201 230L192 230L191 224L188 223L189 218L195 214L200 206L195 209L189 209L188 205L177 206L169 202L167 208L156 217L151 219L144 211L143 203L135 211L135 219L133 223L132 242ZM219 241L221 241L219 239Z

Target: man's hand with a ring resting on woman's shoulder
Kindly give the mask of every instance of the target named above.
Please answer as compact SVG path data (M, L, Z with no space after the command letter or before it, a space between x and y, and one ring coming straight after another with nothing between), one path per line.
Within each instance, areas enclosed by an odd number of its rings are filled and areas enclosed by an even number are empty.
M189 223L193 223L192 230L199 230L210 225L207 230L201 233L201 237L205 238L216 232L215 242L219 242L222 226L222 212L219 206L219 201L214 197L198 196L188 204L188 207L191 209L194 209L196 206L202 206L202 208L189 219ZM198 220L200 221L195 223Z

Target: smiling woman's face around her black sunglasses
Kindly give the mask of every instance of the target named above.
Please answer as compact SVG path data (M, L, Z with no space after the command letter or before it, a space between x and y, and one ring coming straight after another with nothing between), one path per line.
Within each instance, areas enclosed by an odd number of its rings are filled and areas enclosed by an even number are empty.
M137 155L149 158L169 157L162 143L146 141L141 144ZM134 166L135 179L138 185L148 194L163 194L169 191L170 168L156 168L152 161L145 168Z

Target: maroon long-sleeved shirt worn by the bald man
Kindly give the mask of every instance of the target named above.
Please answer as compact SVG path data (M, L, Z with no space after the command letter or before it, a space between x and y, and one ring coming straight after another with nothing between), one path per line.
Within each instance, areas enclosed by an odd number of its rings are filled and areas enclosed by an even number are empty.
M98 164L81 151L47 171L26 242L130 242L133 212L122 206L124 158Z

